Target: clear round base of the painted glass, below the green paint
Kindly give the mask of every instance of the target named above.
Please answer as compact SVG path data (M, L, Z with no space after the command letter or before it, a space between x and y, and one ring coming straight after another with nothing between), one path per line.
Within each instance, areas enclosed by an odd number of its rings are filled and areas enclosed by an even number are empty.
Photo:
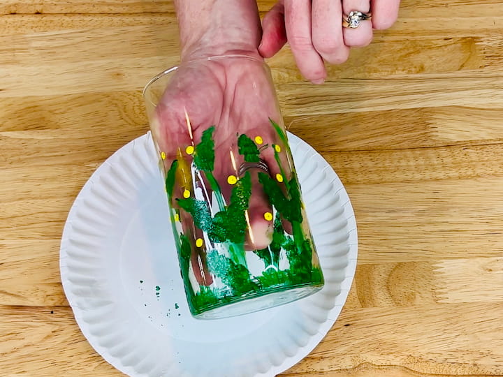
M278 287L277 290L267 290L261 293L233 297L228 303L220 304L214 309L209 309L203 313L194 314L197 319L219 319L243 314L254 313L283 304L288 304L301 298L312 295L323 288L323 283L318 285L305 284L299 286Z

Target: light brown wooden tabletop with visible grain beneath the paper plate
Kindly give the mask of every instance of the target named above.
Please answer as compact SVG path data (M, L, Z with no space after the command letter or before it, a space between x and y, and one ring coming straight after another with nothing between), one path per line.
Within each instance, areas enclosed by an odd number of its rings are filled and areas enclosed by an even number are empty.
M405 0L323 86L287 48L270 60L286 123L344 182L360 241L339 320L283 376L503 375L501 9ZM140 90L177 56L170 1L1 2L1 376L119 375L75 323L59 240L89 175L147 131Z

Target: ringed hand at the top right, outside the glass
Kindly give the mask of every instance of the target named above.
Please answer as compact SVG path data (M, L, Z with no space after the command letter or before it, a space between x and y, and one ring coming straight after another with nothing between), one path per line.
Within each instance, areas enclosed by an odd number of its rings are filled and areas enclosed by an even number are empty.
M350 47L372 40L372 29L387 29L398 17L400 0L279 0L263 17L258 52L276 54L288 40L297 66L307 80L321 84L326 78L323 61L341 64ZM356 29L342 27L343 15L352 10L372 13Z

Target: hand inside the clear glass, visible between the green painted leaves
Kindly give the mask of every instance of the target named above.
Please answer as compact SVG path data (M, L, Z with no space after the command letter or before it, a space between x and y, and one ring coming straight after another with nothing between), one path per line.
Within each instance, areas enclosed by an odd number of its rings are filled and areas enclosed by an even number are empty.
M237 180L249 174L251 194L246 210L247 232L243 235L245 249L265 249L272 241L272 205L258 175L263 170L251 168L244 174L239 171L245 157L238 140L240 135L247 135L260 150L260 158L270 176L281 175L279 182L283 179L287 182L291 177L286 154L275 154L278 150L286 151L287 147L270 123L270 118L281 122L281 117L266 69L257 56L188 62L177 68L156 105L151 128L168 175L173 161L177 161L176 182L168 188L170 205L177 210L177 226L184 235L190 235L190 239L202 240L204 227L194 226L194 214L189 214L180 200L195 198L206 202L212 216L207 219L214 221L217 212L226 212L233 202L233 189L239 185ZM196 158L201 156L198 145L209 131L214 142L214 161L210 170L201 170L195 168ZM238 220L235 216L229 219ZM284 223L288 230L287 222ZM205 260L201 253L205 251L194 249L197 252L191 255L191 263L196 279L199 283L208 283L212 278L201 263ZM197 269L198 266L202 268Z

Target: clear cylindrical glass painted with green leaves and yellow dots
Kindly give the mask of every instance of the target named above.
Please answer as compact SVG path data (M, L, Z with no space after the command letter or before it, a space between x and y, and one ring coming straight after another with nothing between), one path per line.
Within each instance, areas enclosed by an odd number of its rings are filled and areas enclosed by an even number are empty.
M189 61L150 80L143 96L193 316L237 316L321 289L264 61Z

